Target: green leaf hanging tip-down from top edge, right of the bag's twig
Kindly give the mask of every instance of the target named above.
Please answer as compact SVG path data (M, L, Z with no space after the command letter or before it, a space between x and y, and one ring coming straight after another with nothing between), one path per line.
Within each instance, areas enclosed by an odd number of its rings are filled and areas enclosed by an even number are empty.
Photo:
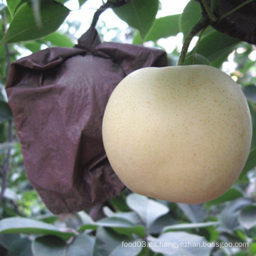
M130 4L114 8L113 11L129 26L137 28L142 38L145 38L154 23L158 7L159 0L134 0Z

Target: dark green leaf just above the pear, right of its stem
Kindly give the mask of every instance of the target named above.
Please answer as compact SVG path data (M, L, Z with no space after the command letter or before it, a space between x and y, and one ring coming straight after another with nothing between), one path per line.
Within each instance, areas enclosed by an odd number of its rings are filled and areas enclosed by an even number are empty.
M225 33L213 31L201 39L196 53L206 57L214 67L219 67L239 42Z

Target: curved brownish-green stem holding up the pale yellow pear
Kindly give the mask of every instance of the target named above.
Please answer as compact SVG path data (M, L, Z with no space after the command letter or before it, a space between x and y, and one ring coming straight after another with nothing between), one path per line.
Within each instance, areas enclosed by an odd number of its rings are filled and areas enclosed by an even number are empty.
M188 46L190 45L193 37L196 36L196 34L201 30L206 29L209 24L210 24L210 20L208 20L207 18L201 18L200 21L198 21L198 23L196 23L196 25L193 26L193 28L188 33L188 36L186 37L183 43L181 54L178 59L178 65L183 65L184 60L186 58L186 53L188 52Z

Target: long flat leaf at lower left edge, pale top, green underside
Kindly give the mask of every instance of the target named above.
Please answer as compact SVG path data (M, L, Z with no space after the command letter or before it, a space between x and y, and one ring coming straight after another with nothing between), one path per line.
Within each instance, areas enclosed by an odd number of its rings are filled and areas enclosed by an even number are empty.
M56 235L63 240L68 240L75 235L73 232L62 232L54 225L48 223L20 217L4 218L0 220L0 233Z

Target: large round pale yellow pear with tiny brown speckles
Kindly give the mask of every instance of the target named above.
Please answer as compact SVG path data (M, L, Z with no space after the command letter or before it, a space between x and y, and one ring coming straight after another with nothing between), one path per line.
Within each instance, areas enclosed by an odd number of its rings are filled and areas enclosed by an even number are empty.
M205 203L240 175L252 121L239 85L217 68L142 68L112 92L102 136L112 168L135 193Z

